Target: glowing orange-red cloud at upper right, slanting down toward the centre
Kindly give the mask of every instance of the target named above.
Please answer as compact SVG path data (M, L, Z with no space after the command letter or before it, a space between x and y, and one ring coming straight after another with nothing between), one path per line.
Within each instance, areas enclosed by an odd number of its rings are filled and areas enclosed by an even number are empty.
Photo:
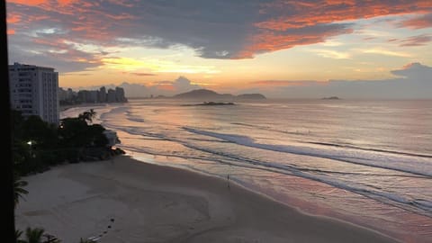
M331 36L351 33L348 23L390 14L424 14L432 11L430 0L392 1L275 1L263 4L260 14L282 13L254 23L257 31L249 36L245 49L236 58L252 58L254 54L290 49L298 45L323 42ZM430 15L430 14L429 14ZM428 19L411 20L410 26L426 26Z

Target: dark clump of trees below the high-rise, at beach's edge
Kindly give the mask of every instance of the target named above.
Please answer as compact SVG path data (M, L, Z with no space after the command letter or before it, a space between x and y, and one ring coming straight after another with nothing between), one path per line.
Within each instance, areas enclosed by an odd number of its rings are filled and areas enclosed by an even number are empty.
M43 172L63 162L106 157L111 148L103 126L92 124L95 114L92 109L65 118L57 126L42 121L39 116L24 119L21 112L12 111L13 160L18 174ZM86 155L86 151L92 151L92 155Z

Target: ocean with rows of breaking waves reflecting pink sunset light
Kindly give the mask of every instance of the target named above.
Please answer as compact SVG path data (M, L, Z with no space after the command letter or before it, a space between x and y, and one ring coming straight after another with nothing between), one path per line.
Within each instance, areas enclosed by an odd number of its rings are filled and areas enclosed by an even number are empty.
M432 242L432 100L196 103L90 108L141 161L219 176L227 187L404 242Z

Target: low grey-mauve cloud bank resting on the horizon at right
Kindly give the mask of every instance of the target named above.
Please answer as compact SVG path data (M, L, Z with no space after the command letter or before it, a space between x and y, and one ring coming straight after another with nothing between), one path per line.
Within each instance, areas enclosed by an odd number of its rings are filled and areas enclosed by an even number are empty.
M432 98L432 67L411 63L393 70L392 74L396 77L384 80L306 81L305 84L291 80L257 81L242 92L261 92L279 98L321 98L335 95L348 99Z

